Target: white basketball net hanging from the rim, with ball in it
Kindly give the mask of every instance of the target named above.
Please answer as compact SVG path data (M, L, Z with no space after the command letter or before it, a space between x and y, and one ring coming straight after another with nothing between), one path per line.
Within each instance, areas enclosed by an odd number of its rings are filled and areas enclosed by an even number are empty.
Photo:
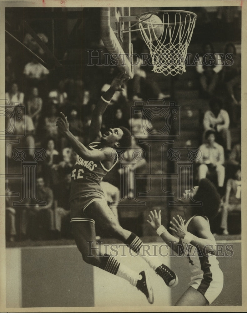
M159 15L159 17L157 16ZM183 74L196 14L188 11L148 12L138 16L155 73Z

